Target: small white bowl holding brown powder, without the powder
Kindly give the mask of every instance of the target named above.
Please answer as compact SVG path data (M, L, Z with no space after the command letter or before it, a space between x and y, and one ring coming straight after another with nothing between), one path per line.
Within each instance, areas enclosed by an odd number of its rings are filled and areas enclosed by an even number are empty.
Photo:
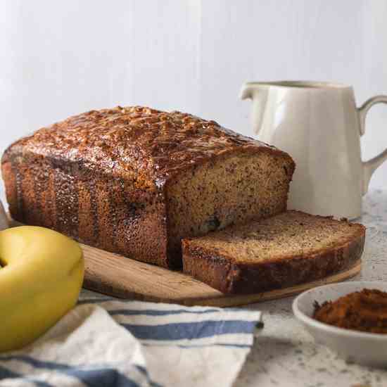
M387 334L369 334L337 328L312 318L315 301L321 305L324 301L337 300L341 296L364 288L387 291L387 282L354 281L319 286L301 293L293 301L293 313L317 343L326 345L348 362L386 368Z

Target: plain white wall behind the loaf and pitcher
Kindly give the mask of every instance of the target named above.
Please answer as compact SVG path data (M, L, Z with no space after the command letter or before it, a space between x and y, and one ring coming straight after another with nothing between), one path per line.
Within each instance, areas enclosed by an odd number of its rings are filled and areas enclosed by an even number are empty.
M245 80L353 84L387 94L385 0L0 0L0 151L68 115L185 110L250 134ZM387 147L376 106L364 159ZM387 188L387 164L372 179Z

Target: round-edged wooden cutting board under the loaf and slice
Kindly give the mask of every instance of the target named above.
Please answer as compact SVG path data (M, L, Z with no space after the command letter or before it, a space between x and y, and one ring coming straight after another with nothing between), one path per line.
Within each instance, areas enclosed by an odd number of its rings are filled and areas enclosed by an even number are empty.
M353 267L319 281L265 293L227 296L181 272L172 272L138 262L98 248L81 245L85 259L84 287L119 298L177 303L182 305L236 306L284 298L315 286L331 284L354 277L361 269L358 260Z

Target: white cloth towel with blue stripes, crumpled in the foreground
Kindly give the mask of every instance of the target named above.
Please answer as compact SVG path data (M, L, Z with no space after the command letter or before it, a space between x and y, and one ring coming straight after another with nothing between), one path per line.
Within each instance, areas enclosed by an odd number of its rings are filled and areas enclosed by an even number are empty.
M88 297L32 345L0 354L0 386L231 386L261 318Z

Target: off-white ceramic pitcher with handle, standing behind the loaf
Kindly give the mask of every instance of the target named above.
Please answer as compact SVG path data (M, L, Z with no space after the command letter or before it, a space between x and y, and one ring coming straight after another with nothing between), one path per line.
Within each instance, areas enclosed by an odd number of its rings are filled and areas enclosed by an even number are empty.
M241 99L253 100L256 137L288 152L296 161L288 208L354 219L362 196L387 149L362 162L360 136L374 96L356 107L353 88L326 82L246 82Z

